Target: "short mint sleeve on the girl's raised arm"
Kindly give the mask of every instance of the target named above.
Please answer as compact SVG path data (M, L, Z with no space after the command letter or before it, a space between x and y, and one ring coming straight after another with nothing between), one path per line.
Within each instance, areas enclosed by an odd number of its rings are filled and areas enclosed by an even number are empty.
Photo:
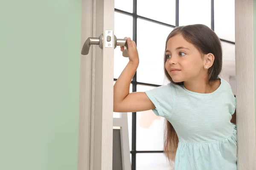
M172 114L173 105L173 88L172 84L163 85L151 90L145 91L145 94L155 105L156 108L152 111L157 116L170 117Z

